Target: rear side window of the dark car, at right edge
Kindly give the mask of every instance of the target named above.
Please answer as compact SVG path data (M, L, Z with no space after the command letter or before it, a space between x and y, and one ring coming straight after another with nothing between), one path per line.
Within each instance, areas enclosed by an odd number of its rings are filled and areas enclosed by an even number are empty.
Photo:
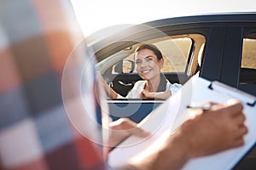
M256 83L256 33L243 38L240 83Z

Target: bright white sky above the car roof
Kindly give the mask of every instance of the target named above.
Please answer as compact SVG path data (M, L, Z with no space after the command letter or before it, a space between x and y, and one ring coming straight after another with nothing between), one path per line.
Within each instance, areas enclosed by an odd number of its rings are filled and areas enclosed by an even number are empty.
M189 14L256 12L255 0L71 0L84 36L109 26Z

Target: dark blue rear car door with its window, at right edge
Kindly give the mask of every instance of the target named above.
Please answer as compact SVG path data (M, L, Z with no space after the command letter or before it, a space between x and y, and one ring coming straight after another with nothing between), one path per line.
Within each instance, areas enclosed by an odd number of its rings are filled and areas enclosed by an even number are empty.
M256 23L227 25L220 80L253 95L256 95L255 46Z

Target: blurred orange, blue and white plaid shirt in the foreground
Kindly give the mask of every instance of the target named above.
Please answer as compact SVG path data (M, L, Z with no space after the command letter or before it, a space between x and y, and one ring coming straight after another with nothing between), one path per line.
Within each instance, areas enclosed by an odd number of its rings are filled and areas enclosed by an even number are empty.
M65 63L83 39L75 20L68 0L0 2L0 169L105 168L100 147L66 114L78 110L68 99L78 95L79 62L66 70L66 105L61 95Z

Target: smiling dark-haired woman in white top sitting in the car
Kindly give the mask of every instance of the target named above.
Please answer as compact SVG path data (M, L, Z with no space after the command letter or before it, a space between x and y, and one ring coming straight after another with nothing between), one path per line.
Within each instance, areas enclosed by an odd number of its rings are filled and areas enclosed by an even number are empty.
M182 85L169 82L161 73L164 65L163 55L153 44L143 44L134 54L137 73L143 78L137 81L131 91L123 97L104 82L105 89L112 99L167 99L175 94Z

